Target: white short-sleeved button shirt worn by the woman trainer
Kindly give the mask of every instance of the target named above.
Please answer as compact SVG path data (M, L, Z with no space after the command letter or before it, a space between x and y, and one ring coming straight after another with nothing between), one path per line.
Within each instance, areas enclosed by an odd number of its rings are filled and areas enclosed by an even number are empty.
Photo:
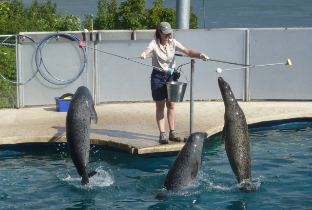
M184 50L184 47L180 44L180 42L176 41L176 39L169 39L166 49L163 49L160 44L160 39L154 39L151 41L147 48L152 49L152 65L166 71L168 71L169 68L174 69L176 67L176 51L182 52Z

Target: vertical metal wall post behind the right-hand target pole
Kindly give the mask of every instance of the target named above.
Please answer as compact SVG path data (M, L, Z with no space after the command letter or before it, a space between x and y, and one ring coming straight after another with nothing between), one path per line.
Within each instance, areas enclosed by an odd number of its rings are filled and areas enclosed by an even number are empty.
M246 31L245 36L245 64L249 65L249 49L250 49L250 30ZM244 72L244 101L249 102L250 101L250 94L249 94L249 68L245 69Z

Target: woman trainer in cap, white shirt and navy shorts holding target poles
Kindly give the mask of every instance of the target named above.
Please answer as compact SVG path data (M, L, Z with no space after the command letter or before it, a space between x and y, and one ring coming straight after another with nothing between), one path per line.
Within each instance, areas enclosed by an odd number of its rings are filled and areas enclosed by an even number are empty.
M148 47L142 52L141 58L145 59L146 55L153 52L152 63L154 67L151 76L152 97L156 103L156 121L159 128L159 143L169 143L165 134L165 117L164 109L167 107L167 118L169 124L169 140L180 141L180 137L176 133L176 111L175 103L168 100L166 82L174 81L173 75L168 74L168 70L174 69L176 51L187 54L192 57L200 57L204 61L208 61L209 57L203 53L197 53L183 47L176 39L171 39L173 33L168 22L161 22L156 29L155 38L150 42Z

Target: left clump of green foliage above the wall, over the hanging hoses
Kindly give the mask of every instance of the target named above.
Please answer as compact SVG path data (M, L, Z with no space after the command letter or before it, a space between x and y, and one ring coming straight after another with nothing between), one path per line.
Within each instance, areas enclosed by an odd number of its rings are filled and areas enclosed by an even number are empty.
M0 2L0 34L19 34L38 31L80 30L80 16L56 14L57 4L39 3L33 0L25 7L22 0L2 0Z

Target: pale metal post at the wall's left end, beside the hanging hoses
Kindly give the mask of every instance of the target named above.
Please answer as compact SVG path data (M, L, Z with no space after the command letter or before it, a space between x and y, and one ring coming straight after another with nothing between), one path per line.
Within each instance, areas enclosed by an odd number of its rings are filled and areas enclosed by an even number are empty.
M16 48L16 53L17 53L17 77L18 77L18 82L22 82L22 74L21 74L21 44L19 42L19 36L16 36L16 41L15 43L17 44ZM24 103L23 103L23 85L19 84L18 85L18 108L24 108Z

